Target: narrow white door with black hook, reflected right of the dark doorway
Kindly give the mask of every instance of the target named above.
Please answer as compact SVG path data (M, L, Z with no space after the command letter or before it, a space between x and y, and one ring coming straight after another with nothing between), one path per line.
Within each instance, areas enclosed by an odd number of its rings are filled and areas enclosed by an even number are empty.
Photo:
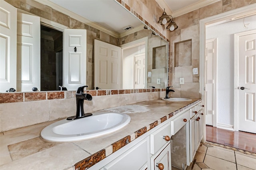
M86 85L86 30L64 30L63 85L76 90Z

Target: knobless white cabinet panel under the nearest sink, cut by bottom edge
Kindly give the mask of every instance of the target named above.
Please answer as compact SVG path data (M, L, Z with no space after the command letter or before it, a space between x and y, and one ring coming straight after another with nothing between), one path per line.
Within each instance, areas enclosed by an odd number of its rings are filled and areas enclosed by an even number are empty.
M148 142L142 140L101 170L139 170L148 159Z

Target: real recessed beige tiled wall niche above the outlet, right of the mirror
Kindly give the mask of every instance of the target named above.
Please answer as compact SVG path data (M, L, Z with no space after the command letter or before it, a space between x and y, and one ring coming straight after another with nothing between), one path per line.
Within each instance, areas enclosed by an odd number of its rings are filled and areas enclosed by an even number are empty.
M192 39L174 43L174 67L192 65Z

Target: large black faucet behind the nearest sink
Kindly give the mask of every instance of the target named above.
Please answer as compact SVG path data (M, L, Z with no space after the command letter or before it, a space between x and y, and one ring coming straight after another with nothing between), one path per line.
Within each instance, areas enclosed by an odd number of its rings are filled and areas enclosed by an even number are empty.
M88 86L81 86L76 90L76 116L68 117L67 120L75 120L92 116L92 113L84 114L84 100L92 100L92 95L84 93L84 87Z

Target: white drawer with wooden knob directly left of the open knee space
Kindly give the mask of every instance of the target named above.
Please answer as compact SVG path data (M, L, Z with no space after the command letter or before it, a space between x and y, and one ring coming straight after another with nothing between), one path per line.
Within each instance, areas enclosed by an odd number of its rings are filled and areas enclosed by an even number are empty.
M150 134L150 153L155 154L164 144L170 142L171 125L167 123L160 129Z

